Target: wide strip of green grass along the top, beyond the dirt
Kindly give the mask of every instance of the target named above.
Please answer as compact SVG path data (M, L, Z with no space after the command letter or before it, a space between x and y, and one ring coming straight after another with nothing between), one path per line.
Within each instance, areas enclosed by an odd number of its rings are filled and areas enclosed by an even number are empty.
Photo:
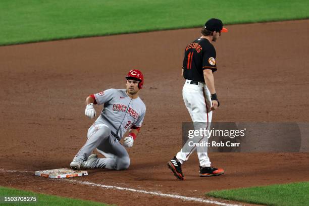
M0 1L0 45L309 18L307 0L10 0Z

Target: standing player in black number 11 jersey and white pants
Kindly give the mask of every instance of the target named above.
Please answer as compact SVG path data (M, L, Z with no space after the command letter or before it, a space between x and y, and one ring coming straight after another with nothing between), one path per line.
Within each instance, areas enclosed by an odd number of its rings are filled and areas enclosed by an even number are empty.
M185 48L182 66L182 75L186 79L182 90L183 99L193 124L202 124L208 130L212 121L212 113L219 107L213 76L213 73L217 71L216 50L212 42L219 39L221 32L227 31L223 28L221 20L210 19L201 30L202 36ZM195 125L194 128L196 129ZM207 141L207 138L203 136L196 141L200 142L200 140ZM190 150L185 150L183 147L168 162L169 169L178 179L184 180L181 165L188 160L195 149L191 147ZM207 148L202 150L197 148L197 156L200 177L218 176L224 173L223 169L211 167Z

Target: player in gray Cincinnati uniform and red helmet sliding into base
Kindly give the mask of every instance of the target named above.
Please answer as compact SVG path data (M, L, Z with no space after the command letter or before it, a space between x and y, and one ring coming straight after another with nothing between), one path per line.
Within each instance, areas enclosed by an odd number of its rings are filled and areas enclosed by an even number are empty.
M85 115L90 119L96 115L93 105L104 105L104 108L89 128L88 139L77 152L70 168L129 168L130 158L124 146L132 147L142 125L146 107L138 97L144 83L143 74L139 70L131 70L126 79L126 89L108 89L86 98ZM127 130L129 135L124 138L122 145L119 141ZM90 155L94 148L106 158Z

